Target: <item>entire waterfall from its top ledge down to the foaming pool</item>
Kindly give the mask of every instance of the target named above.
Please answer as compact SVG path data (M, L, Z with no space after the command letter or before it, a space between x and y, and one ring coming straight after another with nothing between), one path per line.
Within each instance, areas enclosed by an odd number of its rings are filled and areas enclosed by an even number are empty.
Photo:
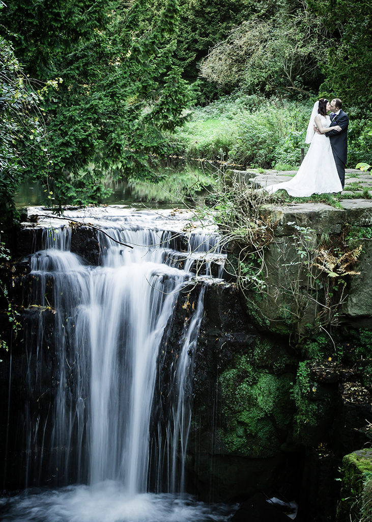
M36 207L29 213L46 211ZM185 494L204 292L212 264L220 267L221 277L224 262L213 224L196 228L191 216L182 210L119 207L66 212L69 219L94 223L105 232L97 235L99 266L70 252L67 221L41 218L44 248L30 258L23 317L28 369L18 430L21 482L28 489L0 500L1 520L231 518L234 508ZM164 402L159 375L167 331L177 296L195 286L199 298L184 325L178 357L167 370L170 391ZM52 379L45 374L48 357ZM12 444L9 437L5 450Z

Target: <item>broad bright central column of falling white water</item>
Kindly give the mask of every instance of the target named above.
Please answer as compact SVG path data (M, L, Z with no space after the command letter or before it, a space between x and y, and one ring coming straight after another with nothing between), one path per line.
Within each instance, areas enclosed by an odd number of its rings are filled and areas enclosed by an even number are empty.
M161 234L125 231L120 239L144 246L106 245L82 326L91 348L90 481L120 480L134 494L146 490L159 343L189 276L161 263L162 248L151 247Z

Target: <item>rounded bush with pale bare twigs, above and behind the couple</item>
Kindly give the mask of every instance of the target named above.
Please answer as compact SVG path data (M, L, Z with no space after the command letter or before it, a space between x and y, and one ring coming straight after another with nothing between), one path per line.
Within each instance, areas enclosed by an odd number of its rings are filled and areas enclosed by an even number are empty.
M254 17L218 43L201 65L202 76L247 92L304 93L322 78L325 29L318 17L289 6L278 16Z

